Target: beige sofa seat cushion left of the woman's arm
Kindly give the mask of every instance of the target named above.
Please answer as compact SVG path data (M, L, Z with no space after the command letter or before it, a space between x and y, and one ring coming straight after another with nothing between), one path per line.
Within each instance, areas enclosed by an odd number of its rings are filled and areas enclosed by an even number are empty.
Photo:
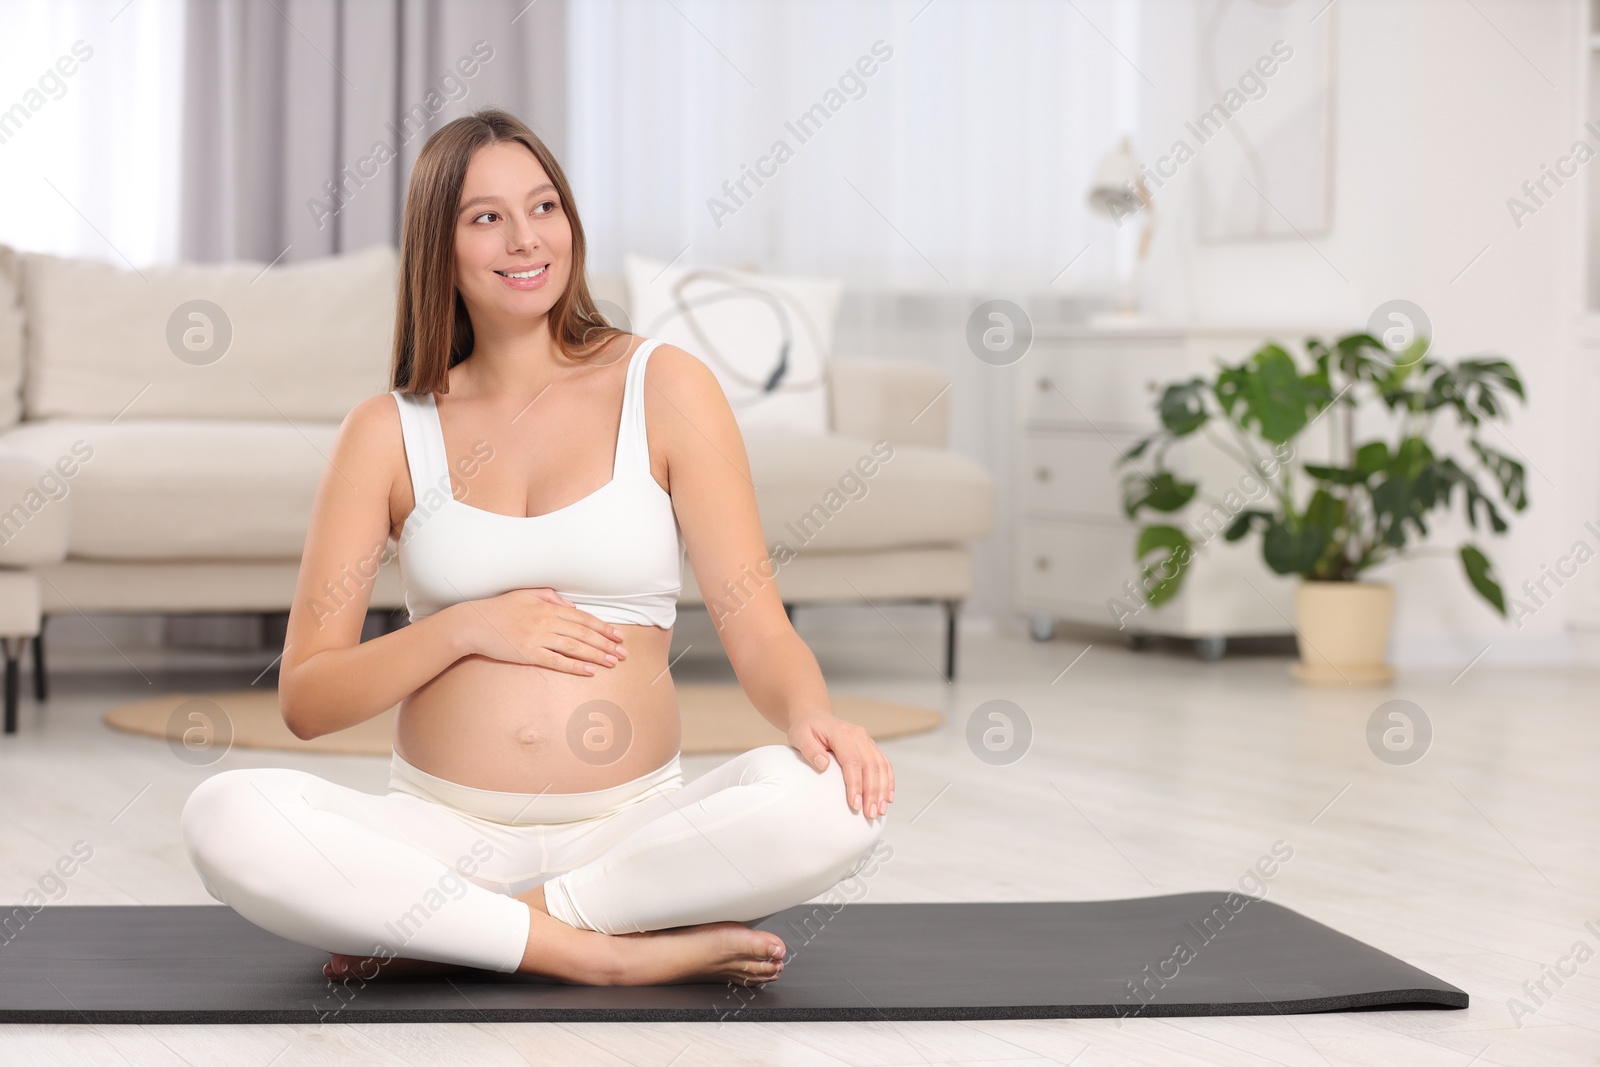
M342 419L342 414L341 414ZM67 478L69 550L85 560L298 560L338 422L46 419L0 435Z

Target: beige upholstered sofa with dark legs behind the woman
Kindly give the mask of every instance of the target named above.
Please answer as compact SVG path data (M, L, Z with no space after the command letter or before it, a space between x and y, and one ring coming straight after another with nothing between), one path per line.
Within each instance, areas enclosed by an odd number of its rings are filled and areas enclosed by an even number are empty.
M0 245L6 733L29 640L48 693L42 619L288 611L334 432L389 389L397 261L379 245L131 270ZM626 314L619 275L590 283ZM834 360L830 434L750 430L746 445L768 547L795 552L776 576L784 603L936 601L954 677L994 483L946 448L947 384L931 366ZM850 499L840 480L880 438L893 461ZM394 547L378 609L403 608ZM706 601L691 566L683 585L680 603Z

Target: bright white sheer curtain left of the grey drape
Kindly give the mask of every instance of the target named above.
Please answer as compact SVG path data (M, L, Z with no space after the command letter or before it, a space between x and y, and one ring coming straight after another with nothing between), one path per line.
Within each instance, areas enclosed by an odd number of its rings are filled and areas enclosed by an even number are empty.
M0 6L0 243L144 267L178 253L184 8Z

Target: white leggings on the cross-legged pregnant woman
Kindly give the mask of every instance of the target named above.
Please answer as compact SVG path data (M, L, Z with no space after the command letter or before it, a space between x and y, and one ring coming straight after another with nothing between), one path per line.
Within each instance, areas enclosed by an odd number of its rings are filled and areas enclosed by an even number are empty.
M870 859L888 816L845 798L838 761L789 745L683 784L678 757L586 793L507 793L394 755L387 793L286 768L222 771L190 793L182 835L200 881L256 926L360 957L515 971L530 905L606 934L803 904Z

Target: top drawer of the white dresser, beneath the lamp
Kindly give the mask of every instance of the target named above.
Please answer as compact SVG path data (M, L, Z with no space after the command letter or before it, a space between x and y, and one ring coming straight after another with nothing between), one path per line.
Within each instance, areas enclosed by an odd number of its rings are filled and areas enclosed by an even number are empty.
M1037 349L1022 371L1027 422L1070 422L1106 429L1155 429L1155 402L1171 381L1187 378L1182 346L1086 344Z

